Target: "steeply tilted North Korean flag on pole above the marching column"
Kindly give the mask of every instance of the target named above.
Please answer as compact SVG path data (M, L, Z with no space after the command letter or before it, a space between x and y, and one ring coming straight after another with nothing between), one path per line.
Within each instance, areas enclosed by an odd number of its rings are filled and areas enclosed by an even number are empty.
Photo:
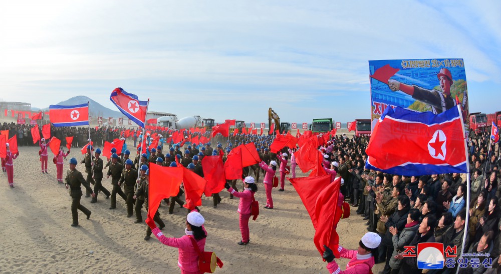
M129 117L129 119L139 126L144 127L148 101L140 101L137 95L128 93L121 87L117 87L111 92L110 100L125 116Z

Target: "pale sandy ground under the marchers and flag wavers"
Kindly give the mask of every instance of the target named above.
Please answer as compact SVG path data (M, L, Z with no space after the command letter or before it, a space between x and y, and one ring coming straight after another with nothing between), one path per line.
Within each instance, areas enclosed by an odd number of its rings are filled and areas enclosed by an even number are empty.
M56 181L56 166L49 152L49 174L42 174L38 147L20 147L14 160L15 188L0 173L0 272L125 272L178 273L177 248L161 244L152 237L143 238L146 224L134 224L126 217L126 207L118 197L117 209L109 210L110 200L100 194L97 203L82 197L92 211L90 220L79 211L80 227L70 224L71 198L63 184ZM78 149L71 156L82 159ZM68 158L69 159L69 158ZM65 172L68 164L65 164ZM84 170L82 164L77 169ZM299 176L305 174L297 171ZM85 174L85 173L84 173ZM256 199L265 204L263 178ZM103 185L111 191L111 178ZM313 243L314 229L308 212L292 185L286 191L274 188L275 208L263 209L256 221L250 220L250 238L246 246L237 245L238 199L221 192L222 202L212 208L210 197L202 198L201 214L208 232L206 250L214 251L224 262L217 273L328 273L326 262ZM144 210L144 209L143 209ZM186 209L176 205L174 214L167 206L159 208L167 236L184 234ZM145 218L143 211L143 219ZM366 232L365 221L352 210L351 217L338 225L340 241L346 248L357 248ZM344 269L347 259L337 260ZM377 273L382 264L373 267Z

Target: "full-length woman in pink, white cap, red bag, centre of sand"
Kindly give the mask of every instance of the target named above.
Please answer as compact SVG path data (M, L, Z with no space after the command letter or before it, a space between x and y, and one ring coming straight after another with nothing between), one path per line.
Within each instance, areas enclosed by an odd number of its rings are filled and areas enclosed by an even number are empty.
M233 194L235 197L240 198L240 202L238 203L238 213L240 213L239 223L240 223L240 232L242 234L242 239L237 242L240 245L247 245L249 242L249 218L250 218L250 203L252 203L254 199L254 194L258 191L258 186L255 183L255 180L251 176L245 177L243 179L243 191L237 192L235 189L231 188L228 182L224 185L228 192Z

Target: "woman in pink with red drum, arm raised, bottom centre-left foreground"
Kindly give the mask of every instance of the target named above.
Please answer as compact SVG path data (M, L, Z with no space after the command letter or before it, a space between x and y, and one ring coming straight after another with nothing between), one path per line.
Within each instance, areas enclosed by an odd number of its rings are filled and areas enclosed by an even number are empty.
M203 228L203 223L205 222L203 216L196 211L192 210L186 216L186 228L184 232L186 235L180 238L169 238L166 237L158 227L156 227L155 221L149 216L146 219L146 223L151 228L151 232L157 239L165 245L177 247L179 250L179 257L177 264L181 268L181 274L199 274L202 273L198 267L198 254L195 247L190 239L194 238L198 244L198 248L201 252L205 248L205 237L207 237L207 232Z

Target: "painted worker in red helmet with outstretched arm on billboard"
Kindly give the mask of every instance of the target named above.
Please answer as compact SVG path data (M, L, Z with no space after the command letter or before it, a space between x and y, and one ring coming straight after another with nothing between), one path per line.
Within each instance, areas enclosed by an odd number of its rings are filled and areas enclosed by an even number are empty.
M427 103L431 106L433 113L438 114L454 107L456 100L450 94L452 76L447 68L441 68L437 74L438 82L442 91L436 89L426 89L417 85L409 85L394 79L388 80L388 87L392 91L401 90L412 96L412 98Z

